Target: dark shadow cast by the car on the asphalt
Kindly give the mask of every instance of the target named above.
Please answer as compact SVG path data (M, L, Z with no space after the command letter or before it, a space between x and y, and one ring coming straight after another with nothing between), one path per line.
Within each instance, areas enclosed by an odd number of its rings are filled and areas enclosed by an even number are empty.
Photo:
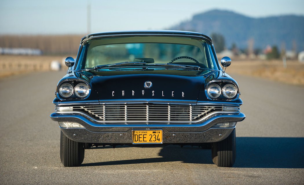
M86 163L82 166L104 166L139 163L182 161L183 163L213 164L211 150L197 146L162 147L159 156L145 159ZM304 168L304 138L237 137L238 168Z

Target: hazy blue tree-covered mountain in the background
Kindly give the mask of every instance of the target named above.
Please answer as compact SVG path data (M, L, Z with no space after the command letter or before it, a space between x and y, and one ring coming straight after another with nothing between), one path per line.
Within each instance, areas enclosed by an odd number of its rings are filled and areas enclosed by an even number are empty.
M219 33L225 37L227 48L236 43L238 48L246 49L248 40L252 38L256 49L264 49L267 45L277 45L280 48L284 43L287 50L295 46L298 51L304 50L304 16L251 18L231 11L211 10L196 14L191 20L170 29L206 35Z

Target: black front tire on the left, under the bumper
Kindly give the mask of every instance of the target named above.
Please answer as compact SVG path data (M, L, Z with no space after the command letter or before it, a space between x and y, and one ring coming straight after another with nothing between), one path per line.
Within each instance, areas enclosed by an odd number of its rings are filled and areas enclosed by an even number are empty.
M65 167L78 167L85 157L85 145L67 138L60 131L60 160Z

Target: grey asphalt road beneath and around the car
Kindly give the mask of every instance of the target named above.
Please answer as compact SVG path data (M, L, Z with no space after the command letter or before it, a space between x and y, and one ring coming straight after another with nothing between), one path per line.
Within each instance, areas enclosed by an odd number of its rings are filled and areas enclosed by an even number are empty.
M229 69L227 70L229 71ZM303 184L304 88L232 75L247 118L237 124L237 160L216 167L198 147L85 150L63 167L60 129L49 118L63 72L0 79L1 184Z

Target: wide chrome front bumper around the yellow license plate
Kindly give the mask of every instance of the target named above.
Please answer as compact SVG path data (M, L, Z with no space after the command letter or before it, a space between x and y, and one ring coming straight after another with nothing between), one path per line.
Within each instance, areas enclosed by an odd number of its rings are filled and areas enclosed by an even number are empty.
M132 143L132 130L163 130L163 143L211 143L226 139L235 127L215 128L217 123L240 122L243 113L214 115L198 124L97 124L82 115L52 113L57 122L75 122L85 128L62 128L71 140L82 143Z

